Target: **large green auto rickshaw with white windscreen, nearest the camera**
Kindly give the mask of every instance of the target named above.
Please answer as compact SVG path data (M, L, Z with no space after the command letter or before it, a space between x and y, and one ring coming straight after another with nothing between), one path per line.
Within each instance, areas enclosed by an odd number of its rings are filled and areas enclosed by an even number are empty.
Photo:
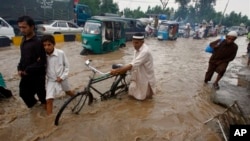
M102 54L126 46L124 21L105 16L94 16L85 23L82 32L82 55Z

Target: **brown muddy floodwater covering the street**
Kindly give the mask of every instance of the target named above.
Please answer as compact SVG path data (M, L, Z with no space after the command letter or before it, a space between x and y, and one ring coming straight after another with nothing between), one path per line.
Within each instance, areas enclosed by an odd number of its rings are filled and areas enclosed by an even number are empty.
M219 38L219 37L217 37ZM18 47L0 48L0 72L7 88L14 96L0 100L0 139L3 141L221 141L221 134L212 126L203 124L224 111L213 104L214 92L203 84L210 54L204 52L206 44L216 38L177 41L158 41L148 38L154 58L157 93L153 99L136 101L123 95L121 99L94 102L79 115L72 115L59 126L54 125L55 114L68 97L55 100L54 114L46 116L42 106L26 108L19 97L16 66L20 58ZM221 80L237 85L237 66L246 64L246 37L236 40L239 50ZM101 55L80 55L80 42L58 43L70 62L69 82L75 91L81 91L91 71L84 65L86 59L103 72L114 63L126 64L133 58L133 46ZM246 60L246 58L245 58ZM236 67L235 67L236 66ZM213 77L213 80L215 77ZM102 82L105 88L110 82ZM226 87L230 89L230 87ZM99 98L97 96L97 98Z

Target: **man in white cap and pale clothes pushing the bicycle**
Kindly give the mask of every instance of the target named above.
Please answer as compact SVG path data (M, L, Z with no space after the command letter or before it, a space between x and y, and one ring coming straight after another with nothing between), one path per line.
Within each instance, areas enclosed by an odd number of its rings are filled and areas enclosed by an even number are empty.
M152 98L155 94L155 75L153 57L147 45L144 44L144 35L136 33L133 36L134 58L132 62L118 69L111 70L111 75L119 75L131 70L129 95L137 100Z

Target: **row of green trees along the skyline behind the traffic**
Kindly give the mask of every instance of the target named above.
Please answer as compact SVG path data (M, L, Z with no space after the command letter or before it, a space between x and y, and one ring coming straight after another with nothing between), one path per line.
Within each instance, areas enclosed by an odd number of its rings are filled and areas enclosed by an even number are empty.
M241 13L235 13L232 11L230 14L223 15L222 12L216 12L214 5L217 0L175 0L179 5L177 10L168 8L169 0L160 0L162 5L156 5L154 7L148 6L148 9L143 12L139 6L137 9L131 10L125 8L125 17L130 18L142 18L148 17L150 14L166 14L169 19L181 18L185 22L200 23L202 20L212 20L215 24L221 24L226 26L239 25L244 23L250 25L250 20L247 16ZM118 14L119 7L113 0L80 0L80 3L89 5L92 15L99 15L101 13L114 13ZM121 11L120 11L121 12Z

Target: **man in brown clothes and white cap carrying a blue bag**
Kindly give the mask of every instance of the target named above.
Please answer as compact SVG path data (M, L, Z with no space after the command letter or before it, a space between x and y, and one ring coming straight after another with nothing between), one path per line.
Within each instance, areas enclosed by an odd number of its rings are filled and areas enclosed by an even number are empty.
M214 72L217 72L217 78L213 83L215 89L219 89L219 81L226 72L230 61L233 61L238 50L238 45L234 43L237 39L237 32L230 31L226 35L226 39L221 42L221 39L213 41L210 46L214 49L212 56L209 59L208 69L205 75L204 82L211 80Z

